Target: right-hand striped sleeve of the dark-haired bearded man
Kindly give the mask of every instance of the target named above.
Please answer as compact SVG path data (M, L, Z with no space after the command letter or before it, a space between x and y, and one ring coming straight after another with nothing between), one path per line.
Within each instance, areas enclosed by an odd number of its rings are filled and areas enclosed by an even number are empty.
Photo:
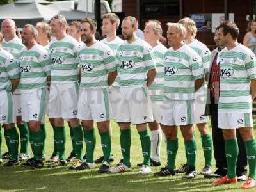
M117 70L116 57L115 57L113 51L110 48L107 49L106 51L104 51L103 62L105 64L105 67L108 70L108 73L114 72L114 71Z

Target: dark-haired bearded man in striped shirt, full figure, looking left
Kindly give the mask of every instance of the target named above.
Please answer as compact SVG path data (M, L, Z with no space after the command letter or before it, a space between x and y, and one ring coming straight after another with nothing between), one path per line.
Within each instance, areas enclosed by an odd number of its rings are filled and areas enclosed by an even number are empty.
M116 60L108 45L95 39L97 23L88 17L81 20L82 40L86 44L77 51L77 60L81 70L81 90L78 102L78 118L84 128L86 143L86 162L73 166L76 170L93 168L93 153L95 149L94 122L99 130L104 159L99 168L100 173L110 170L109 157L111 152L111 136L109 120L111 106L109 105L108 86L116 78Z

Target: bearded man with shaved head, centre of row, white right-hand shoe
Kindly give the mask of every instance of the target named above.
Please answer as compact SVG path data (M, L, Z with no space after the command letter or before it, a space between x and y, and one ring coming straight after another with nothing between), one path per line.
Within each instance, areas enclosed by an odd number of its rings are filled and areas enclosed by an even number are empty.
M118 46L118 72L120 72L120 102L118 102L116 122L120 127L120 144L124 158L111 170L112 173L131 171L131 124L136 125L140 134L143 152L143 165L140 174L148 174L150 168L150 135L147 123L153 122L148 87L156 76L156 61L152 47L137 38L138 21L135 17L125 17L122 22L122 35L125 42Z

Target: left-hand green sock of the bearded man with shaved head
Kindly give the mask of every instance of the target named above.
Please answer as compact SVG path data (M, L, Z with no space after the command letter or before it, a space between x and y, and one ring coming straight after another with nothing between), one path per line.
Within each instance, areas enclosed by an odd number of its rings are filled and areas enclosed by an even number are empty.
M130 148L131 148L131 129L120 130L120 145L123 155L123 163L131 167Z

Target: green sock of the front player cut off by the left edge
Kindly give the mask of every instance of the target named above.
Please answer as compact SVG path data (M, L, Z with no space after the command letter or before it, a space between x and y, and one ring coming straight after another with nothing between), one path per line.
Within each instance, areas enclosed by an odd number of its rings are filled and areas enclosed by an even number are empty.
M5 134L9 136L9 152L11 155L11 159L17 161L18 160L18 150L19 150L19 134L15 127L11 129L5 129Z

